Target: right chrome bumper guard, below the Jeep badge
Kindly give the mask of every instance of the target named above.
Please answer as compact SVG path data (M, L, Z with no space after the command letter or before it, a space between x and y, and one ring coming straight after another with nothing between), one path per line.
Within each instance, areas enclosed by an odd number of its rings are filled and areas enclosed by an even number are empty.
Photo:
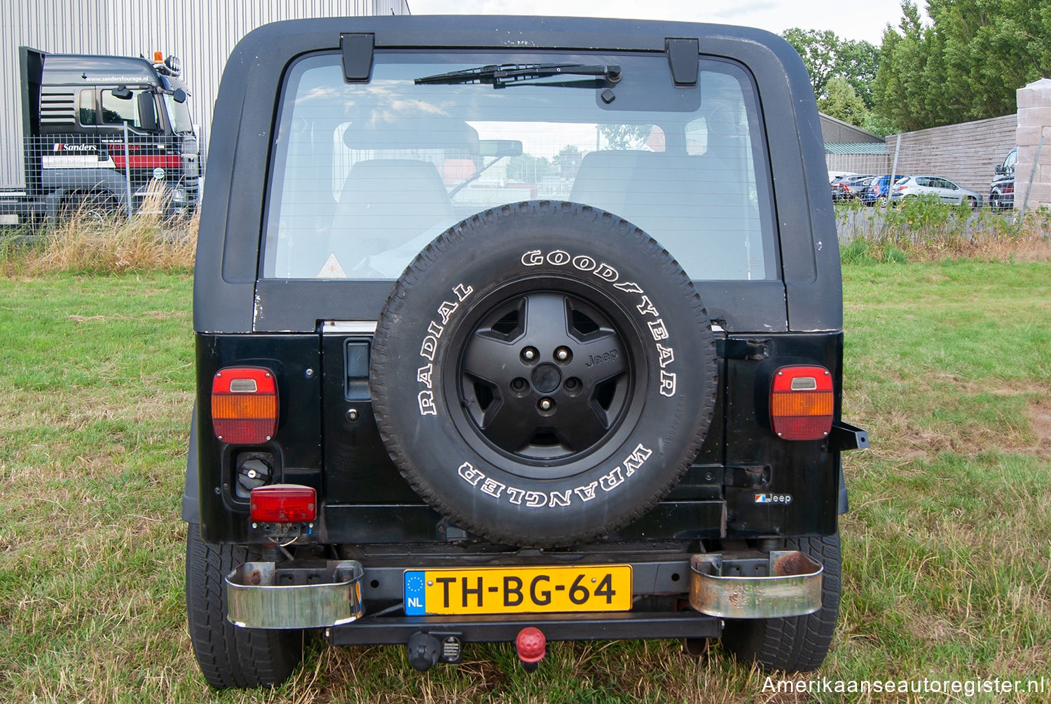
M724 619L776 619L821 608L824 567L799 550L770 552L766 576L723 575L723 556L689 561L689 606Z

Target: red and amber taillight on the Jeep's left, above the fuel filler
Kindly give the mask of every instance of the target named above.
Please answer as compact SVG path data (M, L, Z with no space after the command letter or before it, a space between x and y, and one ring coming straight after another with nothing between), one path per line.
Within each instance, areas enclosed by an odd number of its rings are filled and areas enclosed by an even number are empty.
M211 424L223 442L264 443L277 429L277 385L269 369L235 366L211 380Z

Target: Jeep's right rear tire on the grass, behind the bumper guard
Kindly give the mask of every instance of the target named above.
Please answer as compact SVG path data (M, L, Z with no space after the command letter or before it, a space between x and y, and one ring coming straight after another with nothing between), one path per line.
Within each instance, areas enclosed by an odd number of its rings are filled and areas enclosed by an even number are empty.
M825 566L821 608L787 619L727 620L722 644L764 671L808 672L825 661L840 612L840 536L786 540L784 549L801 550Z

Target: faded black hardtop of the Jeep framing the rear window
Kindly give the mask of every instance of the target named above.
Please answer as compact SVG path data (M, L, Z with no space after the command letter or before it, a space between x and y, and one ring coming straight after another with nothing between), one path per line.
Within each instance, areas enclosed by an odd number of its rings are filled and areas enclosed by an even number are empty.
M839 247L813 89L799 54L768 32L721 24L512 16L382 16L276 22L234 47L223 73L208 148L208 181L194 277L199 333L312 331L324 319L375 319L390 282L270 282L281 310L256 325L256 273L268 155L282 80L312 52L339 52L349 34L388 48L596 49L664 53L696 38L699 53L743 64L755 77L775 184L782 281L712 281L697 287L713 319L736 331L842 328ZM269 285L269 284L268 284ZM765 288L764 288L765 287ZM764 288L762 296L757 290ZM342 290L337 290L342 289ZM769 301L780 313L770 315ZM374 308L374 309L373 309ZM341 315L344 313L344 315Z

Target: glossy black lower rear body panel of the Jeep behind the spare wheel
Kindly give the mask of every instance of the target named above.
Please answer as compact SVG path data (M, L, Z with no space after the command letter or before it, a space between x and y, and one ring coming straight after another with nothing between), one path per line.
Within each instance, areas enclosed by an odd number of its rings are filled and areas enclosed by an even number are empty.
M318 490L324 543L438 542L470 538L412 490L379 438L367 386L363 335L199 335L201 523L206 540L255 542L247 500L235 491L241 452L274 457L273 481ZM842 334L734 336L720 340L721 389L694 464L668 497L610 540L739 539L836 530L839 454L826 441L788 442L769 428L777 368L820 364L839 389ZM230 446L211 428L211 379L225 366L274 371L277 433ZM840 409L836 408L839 418ZM777 501L757 497L778 497ZM800 502L806 502L801 509Z

